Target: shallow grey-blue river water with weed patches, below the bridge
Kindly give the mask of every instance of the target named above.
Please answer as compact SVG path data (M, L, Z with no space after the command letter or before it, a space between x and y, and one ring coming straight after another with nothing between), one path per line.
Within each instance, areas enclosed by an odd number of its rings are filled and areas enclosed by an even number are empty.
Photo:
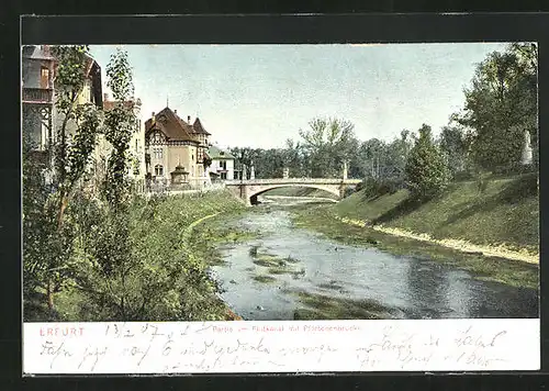
M229 221L261 236L221 247L225 262L212 268L223 300L245 320L294 320L296 310L314 310L303 294L378 303L383 310L371 319L538 316L536 290L477 280L428 259L330 241L293 226L282 201L296 202L277 199L276 205L254 206L261 213L255 210Z

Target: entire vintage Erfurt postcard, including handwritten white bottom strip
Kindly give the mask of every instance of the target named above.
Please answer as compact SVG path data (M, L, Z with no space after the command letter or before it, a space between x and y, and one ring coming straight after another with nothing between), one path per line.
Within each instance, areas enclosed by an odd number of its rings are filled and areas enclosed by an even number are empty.
M539 369L537 58L22 46L24 373Z

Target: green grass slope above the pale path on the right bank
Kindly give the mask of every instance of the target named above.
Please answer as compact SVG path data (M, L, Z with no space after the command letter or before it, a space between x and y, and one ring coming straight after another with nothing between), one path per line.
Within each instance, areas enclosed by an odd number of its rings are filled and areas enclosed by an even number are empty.
M407 190L377 199L359 191L333 208L343 217L435 238L529 250L537 250L539 243L539 196L537 175L533 174L489 178L483 192L475 181L455 182L442 196L423 204L411 200Z

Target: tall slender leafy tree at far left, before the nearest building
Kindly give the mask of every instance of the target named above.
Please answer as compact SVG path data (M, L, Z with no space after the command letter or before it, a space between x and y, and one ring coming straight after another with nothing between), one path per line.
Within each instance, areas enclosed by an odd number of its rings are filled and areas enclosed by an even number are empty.
M49 150L54 166L47 186L30 148L23 153L23 269L24 279L32 283L26 292L43 289L51 316L54 294L65 288L74 271L74 222L66 211L86 172L101 124L93 104L79 104L91 60L88 46L55 46L52 53L56 58L56 109L61 121L54 130ZM24 145L26 136L23 130Z

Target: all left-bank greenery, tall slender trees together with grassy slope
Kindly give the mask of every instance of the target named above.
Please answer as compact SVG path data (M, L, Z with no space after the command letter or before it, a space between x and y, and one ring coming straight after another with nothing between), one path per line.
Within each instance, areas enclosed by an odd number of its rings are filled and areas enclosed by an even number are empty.
M217 231L202 246L191 238L204 219L235 213L242 202L225 192L135 193L128 177L136 118L126 104L134 99L127 53L117 49L107 66L115 100L108 111L79 103L89 47L54 46L52 53L60 120L47 150L52 163L36 155L33 127L23 124L24 321L234 319L216 294L204 254L211 241L235 241L235 233ZM92 164L99 137L110 145L105 172Z

